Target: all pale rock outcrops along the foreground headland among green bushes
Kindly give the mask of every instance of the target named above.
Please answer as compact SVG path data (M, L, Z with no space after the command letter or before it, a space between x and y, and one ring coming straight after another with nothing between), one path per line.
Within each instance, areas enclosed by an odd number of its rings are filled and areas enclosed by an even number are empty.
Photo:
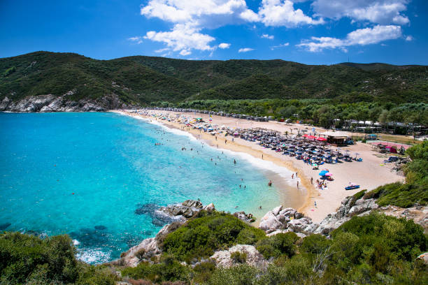
M313 223L311 218L305 217L304 214L297 212L293 208L285 208L280 205L264 215L260 221L259 228L264 230L268 236L287 232L294 232L300 238L305 238L306 235L311 234L328 236L331 231L349 221L355 215L363 216L376 210L394 217L413 219L415 223L422 225L427 231L428 207L415 206L409 209L401 209L394 206L379 207L376 204L376 200L360 197L346 197L341 206L338 207L338 210L328 214L320 224ZM173 220L173 223L164 226L155 238L145 239L140 244L124 252L119 260L113 261L113 264L135 267L141 261L151 261L153 257L162 254L161 244L166 235L176 231L177 228L185 224L188 219L195 217L201 210L215 211L215 207L213 204L204 206L196 200L186 200L183 203L161 207L157 210L159 214L168 215ZM250 222L248 214L243 212L236 212L234 216ZM250 265L266 267L268 264L262 254L254 246L248 244L237 244L229 249L216 251L210 259L215 262L217 267L230 267L237 262L231 257L234 252L244 254L246 256L245 263ZM196 264L192 264L192 266Z

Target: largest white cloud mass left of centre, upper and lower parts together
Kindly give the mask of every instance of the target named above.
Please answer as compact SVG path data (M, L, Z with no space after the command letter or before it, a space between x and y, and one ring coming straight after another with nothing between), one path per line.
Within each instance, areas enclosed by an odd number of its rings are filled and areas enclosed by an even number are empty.
M215 50L210 45L215 38L201 34L202 29L259 21L245 0L150 0L141 8L141 15L173 23L170 31L149 31L145 38L165 43L183 54L191 50ZM227 48L225 43L218 47Z

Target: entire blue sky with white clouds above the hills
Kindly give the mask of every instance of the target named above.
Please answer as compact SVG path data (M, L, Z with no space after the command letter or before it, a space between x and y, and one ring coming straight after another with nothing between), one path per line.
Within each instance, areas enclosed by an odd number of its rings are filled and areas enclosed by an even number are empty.
M0 1L0 57L428 65L427 0Z

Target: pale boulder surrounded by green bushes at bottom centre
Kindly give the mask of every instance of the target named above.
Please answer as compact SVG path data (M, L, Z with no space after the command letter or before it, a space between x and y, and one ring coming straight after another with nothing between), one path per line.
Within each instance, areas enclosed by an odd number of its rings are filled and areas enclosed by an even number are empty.
M239 264L231 256L234 252L239 252L245 257L245 260L242 260L241 263L247 263L257 268L266 268L268 265L268 261L266 261L263 255L253 245L248 244L236 244L227 250L215 251L210 258L215 261L217 267L229 268Z

